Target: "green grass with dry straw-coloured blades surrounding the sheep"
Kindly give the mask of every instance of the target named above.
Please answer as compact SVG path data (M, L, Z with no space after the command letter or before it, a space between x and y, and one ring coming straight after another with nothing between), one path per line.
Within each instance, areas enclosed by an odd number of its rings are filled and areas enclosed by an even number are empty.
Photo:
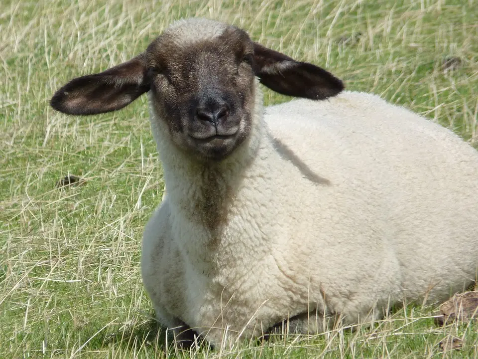
M72 77L142 51L170 22L206 16L323 66L478 143L478 3L39 0L0 3L0 358L478 358L478 325L406 306L371 329L177 351L152 320L142 228L163 180L145 99L69 117L48 100ZM459 58L460 66L443 63ZM266 103L286 98L265 92ZM70 189L67 174L87 181ZM441 353L447 335L461 351Z

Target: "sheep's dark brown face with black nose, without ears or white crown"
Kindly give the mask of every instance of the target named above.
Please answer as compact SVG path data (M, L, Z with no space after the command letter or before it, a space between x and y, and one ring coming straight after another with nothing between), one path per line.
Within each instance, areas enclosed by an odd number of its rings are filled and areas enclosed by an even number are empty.
M171 42L160 36L146 51L153 106L178 147L222 160L250 132L253 43L240 30L185 47Z

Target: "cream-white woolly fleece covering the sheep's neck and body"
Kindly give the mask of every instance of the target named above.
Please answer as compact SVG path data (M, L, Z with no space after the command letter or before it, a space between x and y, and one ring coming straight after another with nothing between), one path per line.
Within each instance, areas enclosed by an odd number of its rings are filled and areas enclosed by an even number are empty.
M364 322L476 280L473 148L375 95L261 103L257 87L249 140L214 172L235 188L217 233L195 220L211 172L175 148L151 110L168 195L144 231L142 274L163 325L187 323L215 345L301 314L298 331L321 332L323 316Z

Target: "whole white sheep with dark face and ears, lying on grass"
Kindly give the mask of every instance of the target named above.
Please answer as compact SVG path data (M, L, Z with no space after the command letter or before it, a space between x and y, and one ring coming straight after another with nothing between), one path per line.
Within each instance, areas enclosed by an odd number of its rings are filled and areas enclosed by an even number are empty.
M302 99L264 109L258 82ZM320 333L476 280L477 152L342 90L237 27L188 19L53 96L56 110L87 115L148 92L168 194L144 230L141 269L177 339L192 328L235 343L287 319Z

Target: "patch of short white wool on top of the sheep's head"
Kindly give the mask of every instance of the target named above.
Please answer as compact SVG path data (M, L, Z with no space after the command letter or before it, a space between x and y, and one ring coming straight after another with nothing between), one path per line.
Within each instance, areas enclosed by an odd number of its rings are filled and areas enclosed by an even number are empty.
M177 46L211 40L221 36L228 26L225 23L205 19L181 19L173 22L164 32Z

